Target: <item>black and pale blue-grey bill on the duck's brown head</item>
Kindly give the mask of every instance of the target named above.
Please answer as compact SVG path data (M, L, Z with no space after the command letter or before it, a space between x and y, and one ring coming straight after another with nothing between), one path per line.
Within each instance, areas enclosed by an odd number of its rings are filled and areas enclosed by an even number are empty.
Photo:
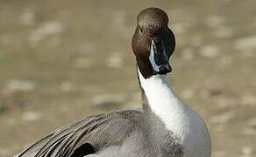
M168 72L172 72L172 68L169 65L169 57L162 40L152 40L149 61L154 74L167 74Z

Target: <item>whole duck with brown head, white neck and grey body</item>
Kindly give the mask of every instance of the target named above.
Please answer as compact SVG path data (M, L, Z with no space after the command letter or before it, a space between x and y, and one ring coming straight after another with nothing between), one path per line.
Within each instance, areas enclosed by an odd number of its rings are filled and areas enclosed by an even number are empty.
M48 134L17 157L210 157L203 119L174 92L167 73L175 39L167 14L142 10L132 38L141 110L79 119Z

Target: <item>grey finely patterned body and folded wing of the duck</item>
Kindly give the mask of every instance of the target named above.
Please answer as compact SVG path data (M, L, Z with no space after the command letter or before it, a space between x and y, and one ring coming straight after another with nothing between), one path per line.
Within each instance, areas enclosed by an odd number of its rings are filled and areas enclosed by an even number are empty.
M62 126L17 157L181 157L170 134L153 113L118 111Z

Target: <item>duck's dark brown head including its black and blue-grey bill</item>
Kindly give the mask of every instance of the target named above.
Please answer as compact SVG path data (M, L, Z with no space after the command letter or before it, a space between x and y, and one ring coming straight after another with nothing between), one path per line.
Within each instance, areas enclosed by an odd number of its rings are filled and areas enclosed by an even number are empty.
M132 38L132 50L143 77L171 72L169 58L174 48L175 38L168 28L167 13L158 8L140 11Z

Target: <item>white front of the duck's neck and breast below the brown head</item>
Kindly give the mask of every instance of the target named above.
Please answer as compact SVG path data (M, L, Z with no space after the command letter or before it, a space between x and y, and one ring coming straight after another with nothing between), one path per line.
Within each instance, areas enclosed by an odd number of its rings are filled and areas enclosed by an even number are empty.
M183 156L209 157L210 135L203 119L177 97L168 83L167 75L144 78L139 69L138 73L149 107L163 121L167 130L181 141L185 147Z

